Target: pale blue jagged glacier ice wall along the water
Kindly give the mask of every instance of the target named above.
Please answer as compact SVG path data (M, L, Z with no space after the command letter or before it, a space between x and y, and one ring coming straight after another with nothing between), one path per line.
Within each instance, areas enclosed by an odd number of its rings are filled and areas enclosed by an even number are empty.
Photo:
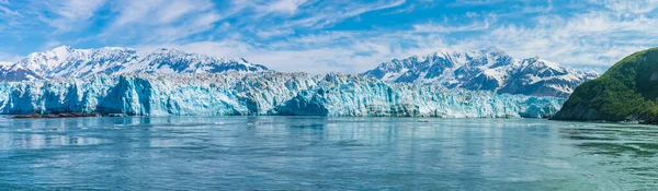
M0 114L542 117L564 99L329 73L122 74L0 83Z

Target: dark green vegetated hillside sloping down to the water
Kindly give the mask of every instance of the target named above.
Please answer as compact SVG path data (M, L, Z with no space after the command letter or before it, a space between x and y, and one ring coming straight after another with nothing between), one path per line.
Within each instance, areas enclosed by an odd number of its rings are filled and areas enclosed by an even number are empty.
M635 52L578 86L553 119L658 122L658 48Z

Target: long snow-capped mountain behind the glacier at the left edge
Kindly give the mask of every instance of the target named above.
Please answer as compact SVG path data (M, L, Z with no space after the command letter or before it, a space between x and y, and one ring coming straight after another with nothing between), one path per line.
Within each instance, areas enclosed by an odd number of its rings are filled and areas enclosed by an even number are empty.
M105 47L73 49L57 47L34 52L15 63L3 63L0 81L83 77L122 73L216 73L225 71L260 72L268 68L245 59L219 59L177 49L160 49L139 57L132 48Z

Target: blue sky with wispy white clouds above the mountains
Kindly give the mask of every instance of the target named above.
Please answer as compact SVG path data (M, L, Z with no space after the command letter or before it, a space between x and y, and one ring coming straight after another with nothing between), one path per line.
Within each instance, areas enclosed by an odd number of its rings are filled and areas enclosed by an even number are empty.
M658 0L0 0L0 61L61 45L177 48L310 73L497 47L604 71L658 47Z

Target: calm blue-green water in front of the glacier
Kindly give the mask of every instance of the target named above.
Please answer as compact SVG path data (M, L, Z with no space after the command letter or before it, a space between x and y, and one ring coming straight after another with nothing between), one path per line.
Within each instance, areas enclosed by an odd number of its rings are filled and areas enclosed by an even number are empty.
M0 189L656 190L658 128L538 119L0 119Z

